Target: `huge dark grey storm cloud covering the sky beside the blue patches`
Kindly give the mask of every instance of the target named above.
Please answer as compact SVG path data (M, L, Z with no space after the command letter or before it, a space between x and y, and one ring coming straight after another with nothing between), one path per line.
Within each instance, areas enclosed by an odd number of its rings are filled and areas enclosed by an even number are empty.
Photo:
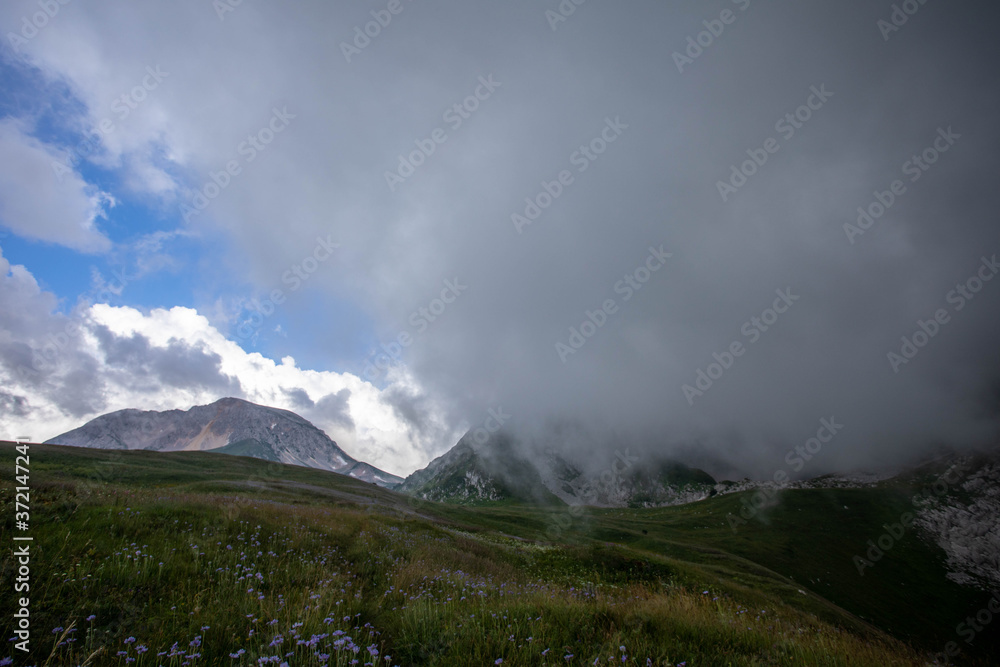
M595 458L770 475L834 417L813 475L997 432L997 9L897 2L918 8L904 22L893 4L595 0L563 22L555 0L413 3L350 62L364 3L74 16L108 66L171 71L147 129L192 188L288 105L196 218L234 245L206 264L271 293L318 235L339 242L284 295L287 331L317 326L307 291L364 310L372 352L407 366L386 400L415 429L441 404L450 424L502 408ZM51 58L95 104L118 92ZM445 281L467 289L446 300ZM109 349L156 375L141 347Z

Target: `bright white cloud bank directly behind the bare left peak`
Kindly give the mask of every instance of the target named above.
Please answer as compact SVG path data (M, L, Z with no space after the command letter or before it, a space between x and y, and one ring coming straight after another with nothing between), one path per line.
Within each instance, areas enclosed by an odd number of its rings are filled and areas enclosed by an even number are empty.
M278 363L245 352L190 308L142 313L96 304L58 315L53 295L27 269L0 256L0 271L7 313L0 317L0 405L9 404L0 413L4 437L43 440L105 412L186 409L235 393L301 414L354 458L395 474L425 465L428 452L457 439L437 412L414 425L383 400L393 388L420 392L405 375L380 390L350 373L300 368L291 357ZM185 366L191 360L196 368ZM81 393L89 399L82 404ZM321 399L338 394L347 397L344 412L324 413ZM312 405L296 400L304 395ZM15 403L18 410L10 408Z

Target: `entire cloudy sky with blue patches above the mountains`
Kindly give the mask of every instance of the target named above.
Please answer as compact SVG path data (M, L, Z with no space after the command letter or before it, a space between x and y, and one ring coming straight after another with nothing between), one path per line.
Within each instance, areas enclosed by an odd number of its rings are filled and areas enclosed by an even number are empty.
M236 396L400 475L491 414L731 475L995 443L997 11L4 2L0 437Z

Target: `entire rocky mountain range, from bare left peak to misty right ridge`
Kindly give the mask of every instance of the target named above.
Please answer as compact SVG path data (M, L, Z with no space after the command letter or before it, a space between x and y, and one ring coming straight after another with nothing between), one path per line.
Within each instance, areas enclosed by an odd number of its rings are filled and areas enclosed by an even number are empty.
M825 475L778 487L750 479L716 481L697 468L649 454L639 456L628 448L610 454L598 448L604 452L600 456L587 454L567 434L540 443L504 431L477 441L475 433L466 434L405 480L351 458L323 431L292 412L235 398L190 410L120 410L47 444L249 456L329 470L426 500L471 505L511 502L553 508L644 508L740 494L743 504L733 504L725 518L733 530L779 511L778 494L783 490L864 490L859 491L858 502L869 497L866 494L882 498L898 491L913 497L914 523L924 539L942 549L949 579L983 590L1000 587L997 449L978 454L946 452L923 464L883 474ZM910 489L920 488L924 490L913 496ZM742 493L746 491L755 493ZM864 553L870 559L877 555ZM864 559L856 563L870 565Z

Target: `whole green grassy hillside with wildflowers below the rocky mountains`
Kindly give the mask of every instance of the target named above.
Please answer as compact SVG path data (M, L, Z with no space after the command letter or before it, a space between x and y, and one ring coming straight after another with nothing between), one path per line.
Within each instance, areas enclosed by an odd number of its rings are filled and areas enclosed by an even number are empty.
M206 452L32 445L30 468L32 651L9 643L15 664L920 665L985 598L912 536L858 575L851 557L905 508L894 489L789 491L734 532L737 495L580 513ZM988 639L959 664L990 664Z

